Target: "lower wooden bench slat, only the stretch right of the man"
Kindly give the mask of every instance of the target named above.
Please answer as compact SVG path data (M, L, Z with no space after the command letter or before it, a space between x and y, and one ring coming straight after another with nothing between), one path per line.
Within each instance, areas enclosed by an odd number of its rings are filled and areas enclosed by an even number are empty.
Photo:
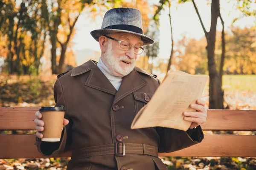
M254 135L204 135L201 143L159 156L239 156L256 157Z

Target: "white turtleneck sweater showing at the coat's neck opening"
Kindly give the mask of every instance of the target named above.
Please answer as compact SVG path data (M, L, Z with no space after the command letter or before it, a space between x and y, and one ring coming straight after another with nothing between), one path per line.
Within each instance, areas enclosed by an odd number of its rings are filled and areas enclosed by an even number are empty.
M97 66L102 71L102 73L108 78L108 80L114 86L116 91L118 91L122 82L122 77L113 76L108 67L102 62L101 57L99 57L99 62L97 63Z

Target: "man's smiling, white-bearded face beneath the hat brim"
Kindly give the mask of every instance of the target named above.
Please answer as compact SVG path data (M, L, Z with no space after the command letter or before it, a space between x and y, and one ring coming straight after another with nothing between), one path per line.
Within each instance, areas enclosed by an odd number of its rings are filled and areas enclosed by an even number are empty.
M143 45L141 38L129 33L115 33L109 37L117 40L125 40L131 44ZM118 77L124 77L129 74L135 66L137 54L134 54L134 47L129 51L119 48L119 42L108 39L107 50L102 55L102 61L110 69L111 73Z

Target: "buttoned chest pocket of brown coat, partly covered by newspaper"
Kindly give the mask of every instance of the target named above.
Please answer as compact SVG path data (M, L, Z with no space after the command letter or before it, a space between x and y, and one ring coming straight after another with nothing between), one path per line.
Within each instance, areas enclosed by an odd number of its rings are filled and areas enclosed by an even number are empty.
M134 106L136 114L143 108L152 98L152 93L134 91Z

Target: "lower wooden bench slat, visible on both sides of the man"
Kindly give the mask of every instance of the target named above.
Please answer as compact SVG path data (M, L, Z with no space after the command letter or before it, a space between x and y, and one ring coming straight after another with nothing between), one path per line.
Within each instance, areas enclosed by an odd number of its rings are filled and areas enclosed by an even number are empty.
M45 158L35 143L35 135L0 135L0 159ZM28 152L29 150L29 152ZM70 157L71 152L56 157ZM201 143L159 156L240 156L256 157L256 136L205 135Z

